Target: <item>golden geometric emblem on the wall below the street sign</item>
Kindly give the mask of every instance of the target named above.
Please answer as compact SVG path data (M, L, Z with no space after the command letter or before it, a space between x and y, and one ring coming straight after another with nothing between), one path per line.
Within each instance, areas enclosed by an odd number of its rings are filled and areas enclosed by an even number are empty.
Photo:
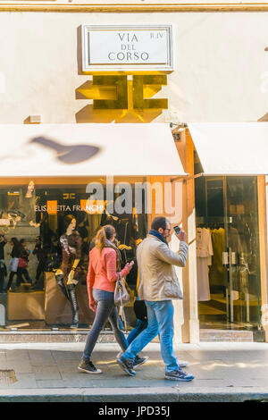
M153 98L167 84L165 74L93 75L76 90L77 99L91 99L76 114L77 122L151 122L168 107Z

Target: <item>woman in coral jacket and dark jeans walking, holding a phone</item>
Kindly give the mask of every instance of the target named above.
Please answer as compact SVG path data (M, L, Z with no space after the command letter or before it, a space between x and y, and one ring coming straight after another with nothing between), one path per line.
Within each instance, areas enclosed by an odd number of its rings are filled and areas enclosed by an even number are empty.
M128 342L123 332L118 329L116 318L117 309L114 307L114 289L118 273L124 277L134 264L126 264L121 270L121 253L115 246L115 229L112 225L105 225L96 233L95 248L89 252L88 266L88 298L89 307L96 313L95 320L84 349L79 370L88 374L101 374L91 362L91 354L96 345L96 340L105 326L107 320L112 325L113 333L121 350L127 349Z

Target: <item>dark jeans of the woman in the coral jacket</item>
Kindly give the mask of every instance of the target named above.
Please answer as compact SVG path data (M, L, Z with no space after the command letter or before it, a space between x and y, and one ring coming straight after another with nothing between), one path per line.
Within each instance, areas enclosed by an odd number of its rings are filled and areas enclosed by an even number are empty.
M97 302L96 315L92 328L88 333L88 339L84 349L83 359L90 359L91 353L96 345L96 340L98 339L98 336L104 328L107 320L109 320L109 323L111 323L115 340L120 345L121 350L124 351L129 346L123 332L121 332L117 327L117 308L114 307L113 292L93 289L93 298Z

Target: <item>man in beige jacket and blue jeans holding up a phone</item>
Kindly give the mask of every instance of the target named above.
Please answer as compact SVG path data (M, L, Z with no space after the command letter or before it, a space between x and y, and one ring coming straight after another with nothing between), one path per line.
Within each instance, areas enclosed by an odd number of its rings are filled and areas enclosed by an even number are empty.
M172 252L167 242L170 235L169 221L165 217L155 217L147 238L138 246L138 297L146 303L148 323L147 328L121 353L117 362L127 374L134 376L136 373L133 370L133 361L136 355L159 334L165 379L192 381L194 376L180 369L173 353L174 309L171 295L167 291L173 282L178 284L174 265L186 265L188 245L186 233L181 230L179 235L176 233L180 239L180 250L178 253ZM182 298L181 293L179 294L178 298Z

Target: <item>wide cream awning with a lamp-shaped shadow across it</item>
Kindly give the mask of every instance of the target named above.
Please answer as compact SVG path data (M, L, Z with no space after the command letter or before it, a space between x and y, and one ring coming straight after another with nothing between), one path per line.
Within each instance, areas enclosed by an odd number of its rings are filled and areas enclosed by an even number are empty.
M169 124L0 125L0 177L186 175Z

